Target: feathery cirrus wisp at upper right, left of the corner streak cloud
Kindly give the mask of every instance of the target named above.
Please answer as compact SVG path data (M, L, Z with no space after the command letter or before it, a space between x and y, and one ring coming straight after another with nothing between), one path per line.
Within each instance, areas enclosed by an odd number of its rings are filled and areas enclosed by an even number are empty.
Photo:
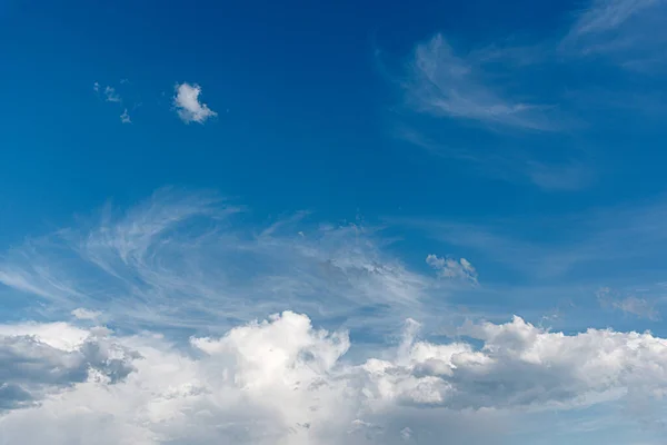
M392 132L431 154L467 164L485 177L530 184L547 191L587 187L595 178L593 168L566 139L561 142L561 159L556 162L540 159L538 150L515 147L515 137L520 134L529 134L537 146L545 132L558 138L564 129L580 126L563 112L558 102L517 99L531 95L526 89L517 90L516 80L514 88L508 88L509 80L520 78L527 67L544 63L545 52L530 47L490 46L457 55L441 34L436 34L416 47L401 83L406 103L417 113L401 116L402 121ZM451 127L441 130L439 119ZM472 138L472 132L451 138L452 132L467 131L466 127L456 127L457 121L481 125L491 130L490 136L481 144L475 136L475 147L467 147L465 140Z

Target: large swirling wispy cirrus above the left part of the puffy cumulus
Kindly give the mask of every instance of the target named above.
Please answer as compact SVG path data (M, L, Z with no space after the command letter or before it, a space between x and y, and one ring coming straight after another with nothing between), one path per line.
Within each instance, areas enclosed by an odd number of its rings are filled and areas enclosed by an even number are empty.
M48 310L84 307L130 329L221 329L286 304L369 329L421 316L434 280L388 255L371 228L302 215L252 227L242 211L211 195L161 190L7 253L0 283L50 303Z

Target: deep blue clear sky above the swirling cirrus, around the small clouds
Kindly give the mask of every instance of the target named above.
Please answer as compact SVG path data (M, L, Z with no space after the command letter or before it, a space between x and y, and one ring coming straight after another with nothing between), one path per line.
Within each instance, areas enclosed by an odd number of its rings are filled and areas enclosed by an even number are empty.
M444 32L465 52L507 39L556 40L575 6L10 2L0 18L7 103L0 199L10 209L1 240L16 243L27 229L42 230L44 219L62 221L109 197L132 201L165 184L213 187L262 211L309 208L330 218L535 215L659 194L664 130L631 113L594 116L604 121L596 128L590 117L598 110L577 109L585 128L547 136L452 126L439 136L464 149L514 145L546 159L590 151L585 162L596 180L575 192L470 175L392 135L402 92L384 72L402 75L397 67L417 42ZM539 78L517 72L512 81L549 102L581 85L604 88L635 76L608 72L604 61L539 70ZM118 87L120 79L130 82ZM119 131L117 109L91 93L94 81L141 102L135 126ZM169 99L181 81L203 86L219 112L215 125L177 125Z

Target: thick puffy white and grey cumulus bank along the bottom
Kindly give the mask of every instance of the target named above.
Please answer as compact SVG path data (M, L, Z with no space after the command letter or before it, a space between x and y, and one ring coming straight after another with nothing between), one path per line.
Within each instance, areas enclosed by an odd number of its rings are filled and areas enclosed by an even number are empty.
M407 329L398 348L355 362L345 330L317 329L292 312L192 337L185 348L149 332L106 330L102 340L66 324L2 325L3 339L28 342L3 340L2 350L33 366L6 373L0 395L42 390L39 403L6 412L0 431L8 443L54 445L511 443L508 422L527 412L667 388L667 342L650 334L564 335L515 317L464 326L482 343L476 347L417 340L416 325ZM93 354L91 342L107 346Z

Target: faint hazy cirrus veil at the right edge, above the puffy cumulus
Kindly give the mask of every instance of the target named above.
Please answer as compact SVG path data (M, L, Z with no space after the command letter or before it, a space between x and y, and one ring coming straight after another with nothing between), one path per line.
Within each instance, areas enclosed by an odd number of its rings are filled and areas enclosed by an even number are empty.
M664 199L597 208L549 217L517 217L465 222L457 220L391 219L426 230L434 239L481 254L487 260L520 271L530 279L581 276L596 279L630 277L650 270L659 274L667 230ZM556 231L556 228L559 228ZM526 230L558 233L557 241L536 240ZM614 271L610 271L614 270Z

